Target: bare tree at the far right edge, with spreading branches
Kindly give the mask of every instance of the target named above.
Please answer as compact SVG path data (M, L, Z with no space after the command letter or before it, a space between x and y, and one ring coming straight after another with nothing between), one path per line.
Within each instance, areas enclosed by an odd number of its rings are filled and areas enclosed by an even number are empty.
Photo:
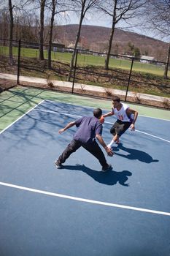
M167 79L170 59L170 1L149 0L144 13L146 28L157 31L159 36L169 41L163 75L163 77Z

